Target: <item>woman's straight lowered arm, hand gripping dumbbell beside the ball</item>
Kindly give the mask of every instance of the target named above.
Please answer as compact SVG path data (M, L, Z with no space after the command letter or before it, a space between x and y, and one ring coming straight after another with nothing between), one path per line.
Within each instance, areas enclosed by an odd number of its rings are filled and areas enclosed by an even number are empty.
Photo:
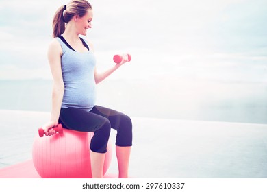
M43 126L47 131L55 125L58 125L58 118L60 117L60 108L64 95L64 82L61 69L62 48L58 40L53 39L49 45L47 52L51 73L53 76L53 90L52 90L52 109L50 122Z

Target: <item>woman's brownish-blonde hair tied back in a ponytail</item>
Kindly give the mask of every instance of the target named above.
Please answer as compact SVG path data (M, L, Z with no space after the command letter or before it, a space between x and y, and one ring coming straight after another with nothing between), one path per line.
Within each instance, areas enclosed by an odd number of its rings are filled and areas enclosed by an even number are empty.
M58 37L65 31L65 23L71 21L73 16L82 17L92 5L86 0L73 0L67 5L62 5L53 17L53 37Z

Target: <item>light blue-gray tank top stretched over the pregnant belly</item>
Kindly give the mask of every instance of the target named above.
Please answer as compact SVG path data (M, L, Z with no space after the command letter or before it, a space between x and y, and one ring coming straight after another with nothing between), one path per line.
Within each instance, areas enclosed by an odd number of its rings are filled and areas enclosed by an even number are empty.
M82 108L90 111L96 102L94 67L96 60L87 43L81 39L88 51L74 51L61 36L57 38L62 47L62 76L65 86L62 108Z

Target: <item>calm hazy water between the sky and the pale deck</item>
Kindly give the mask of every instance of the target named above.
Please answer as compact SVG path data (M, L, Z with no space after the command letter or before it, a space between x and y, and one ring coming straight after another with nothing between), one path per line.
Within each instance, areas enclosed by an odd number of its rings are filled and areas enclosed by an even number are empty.
M50 80L1 80L0 108L51 110ZM97 104L135 117L267 123L267 85L186 79L106 80Z

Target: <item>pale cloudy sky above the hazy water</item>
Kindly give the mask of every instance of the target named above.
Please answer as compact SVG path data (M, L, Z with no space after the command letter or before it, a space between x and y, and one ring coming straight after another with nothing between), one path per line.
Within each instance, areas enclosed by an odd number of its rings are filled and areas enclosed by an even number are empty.
M53 14L68 1L0 0L0 80L51 79ZM267 1L90 1L99 71L117 53L131 62L110 78L267 82Z

